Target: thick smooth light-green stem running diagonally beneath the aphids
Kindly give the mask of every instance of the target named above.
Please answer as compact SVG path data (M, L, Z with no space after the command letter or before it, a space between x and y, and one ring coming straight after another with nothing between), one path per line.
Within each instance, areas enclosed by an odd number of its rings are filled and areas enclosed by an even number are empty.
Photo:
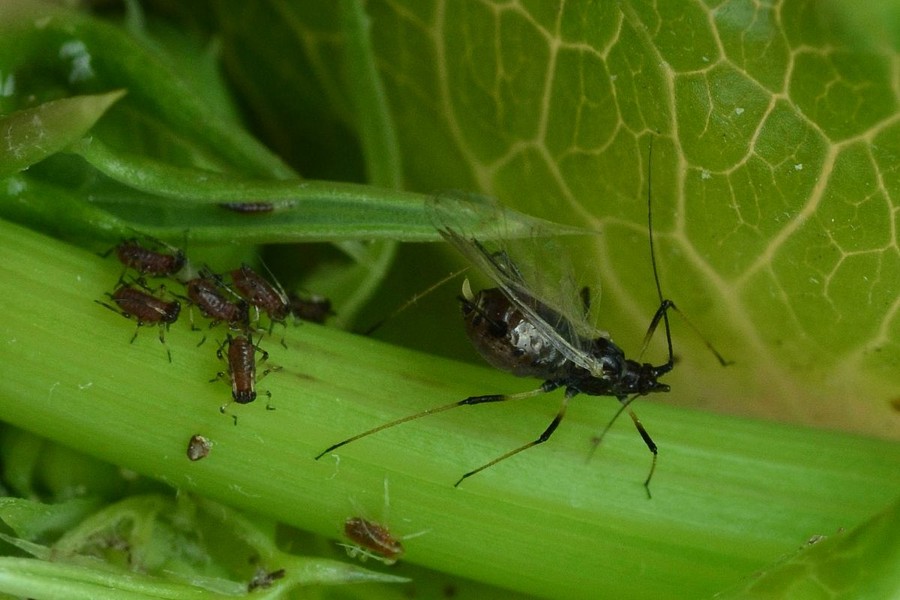
M0 222L0 411L4 419L172 486L337 537L355 514L410 539L405 560L547 597L701 597L771 564L814 534L861 522L900 494L900 445L719 415L635 405L660 447L620 420L597 455L590 439L615 411L578 397L550 443L467 480L536 436L559 395L451 411L316 462L376 424L473 394L537 382L345 332L302 324L263 338L266 399L218 407L209 383L221 329L168 332L94 303L120 273L112 259ZM436 327L458 327L456 315ZM262 368L262 367L260 367ZM723 371L727 376L727 371ZM213 442L198 462L188 439ZM387 483L386 483L387 482ZM389 485L390 508L385 508Z

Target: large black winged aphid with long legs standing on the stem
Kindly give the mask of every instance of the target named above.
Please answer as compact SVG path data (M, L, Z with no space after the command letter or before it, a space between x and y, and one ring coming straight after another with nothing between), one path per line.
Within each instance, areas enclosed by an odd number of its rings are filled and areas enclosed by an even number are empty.
M585 318L585 308L589 304L587 295L574 285L570 285L574 279L542 278L540 264L514 262L502 244L476 239L466 232L466 226L459 224L460 221L449 208L445 208L439 197L432 202L431 211L433 221L441 235L489 275L498 286L481 290L474 295L467 293L465 297L460 298L466 333L479 354L491 365L520 377L543 379L544 383L538 389L529 392L471 396L390 421L329 446L319 453L316 459L363 437L427 415L458 406L528 398L561 387L565 390L562 404L540 436L464 473L454 485L458 486L466 478L546 442L563 420L569 401L578 394L587 394L613 396L619 400L621 406L613 421L622 411L628 412L652 453L650 471L644 481L649 497L650 480L656 467L657 446L629 405L639 396L669 391L669 386L659 379L671 371L675 364L668 311L677 310L671 300L663 297L659 284L649 198L648 182L650 257L659 305L650 321L644 338L644 347L662 322L667 347L665 362L654 365L627 358L606 333L587 322ZM489 212L489 208L486 210ZM499 209L496 214L498 219L502 219ZM541 239L538 243L546 242ZM707 346L712 349L708 343ZM714 349L712 350L720 363L727 364ZM595 447L600 438L595 440Z

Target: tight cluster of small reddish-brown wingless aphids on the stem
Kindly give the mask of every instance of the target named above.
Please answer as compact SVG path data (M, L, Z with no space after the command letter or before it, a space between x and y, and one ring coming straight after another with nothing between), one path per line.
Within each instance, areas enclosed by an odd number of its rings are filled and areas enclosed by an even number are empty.
M211 381L226 379L231 383L232 401L248 404L256 400L256 382L279 367L268 367L258 372L257 366L268 359L268 353L260 348L264 333L271 334L275 324L286 326L288 316L324 322L331 314L331 304L320 297L300 299L289 297L280 285L272 283L252 267L242 264L222 275L207 267L194 269L184 252L162 242L145 244L137 239L125 240L113 251L125 270L113 292L107 293L109 302L97 301L102 306L137 322L131 337L133 342L145 325L159 328L159 340L165 345L165 333L181 315L182 302L188 305L191 328L200 329L194 321L194 308L209 321L209 328L223 325L227 328L225 339L216 349L216 355L225 364L225 370ZM153 285L150 279L167 278L170 283L183 288L183 293L172 291L165 284ZM262 316L268 320L267 327ZM206 340L200 340L198 346ZM282 344L284 339L282 338ZM172 353L166 346L169 362ZM268 391L263 392L270 396ZM225 412L226 405L221 407Z

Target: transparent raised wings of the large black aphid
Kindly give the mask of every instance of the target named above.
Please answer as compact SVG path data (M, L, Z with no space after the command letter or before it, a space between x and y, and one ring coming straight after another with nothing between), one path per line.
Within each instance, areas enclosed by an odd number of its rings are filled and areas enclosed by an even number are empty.
M470 194L440 194L429 202L429 213L444 239L490 277L559 352L599 373L588 345L608 336L590 322L582 286L560 243L564 236L596 232L529 217Z

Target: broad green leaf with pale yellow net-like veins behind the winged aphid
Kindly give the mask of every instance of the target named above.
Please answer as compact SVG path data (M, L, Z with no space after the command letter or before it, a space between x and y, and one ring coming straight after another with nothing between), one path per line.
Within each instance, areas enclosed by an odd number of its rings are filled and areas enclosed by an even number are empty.
M674 319L669 401L900 437L890 20L806 0L368 10L408 184L599 231L576 264L629 353L655 308L654 138L663 292L734 361Z

